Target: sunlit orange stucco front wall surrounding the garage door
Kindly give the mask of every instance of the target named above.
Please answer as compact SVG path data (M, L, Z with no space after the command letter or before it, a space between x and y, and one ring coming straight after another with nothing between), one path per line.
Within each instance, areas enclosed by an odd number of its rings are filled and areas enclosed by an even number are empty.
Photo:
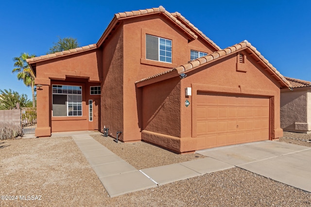
M251 57L245 59L244 68L246 72L238 72L236 63L237 53L234 53L206 66L202 66L192 73L187 73L187 78L182 80L182 102L187 99L184 92L186 87L192 87L190 104L191 102L195 104L197 91L212 92L215 94L228 93L270 97L270 138L274 139L282 136L279 121L280 84ZM195 107L193 104L191 107L192 110ZM185 126L185 128L182 127L181 131L182 135L186 137L190 136L191 130L187 123L189 122L190 114L193 115L194 112L191 111L190 113L190 109L188 108L181 108L182 111L185 111L182 114L187 114L187 116L182 118L182 126ZM195 133L193 134L192 130L192 136L194 135Z

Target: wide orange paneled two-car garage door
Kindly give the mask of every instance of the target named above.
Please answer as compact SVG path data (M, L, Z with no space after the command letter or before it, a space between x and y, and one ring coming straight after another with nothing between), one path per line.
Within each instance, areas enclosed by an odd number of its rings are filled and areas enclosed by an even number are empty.
M198 92L197 149L269 139L267 97L219 96Z

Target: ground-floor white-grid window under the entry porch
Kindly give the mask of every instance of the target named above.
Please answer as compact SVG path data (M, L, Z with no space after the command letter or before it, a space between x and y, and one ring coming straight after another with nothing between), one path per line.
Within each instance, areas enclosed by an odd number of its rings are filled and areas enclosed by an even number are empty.
M52 85L53 116L82 116L82 86Z

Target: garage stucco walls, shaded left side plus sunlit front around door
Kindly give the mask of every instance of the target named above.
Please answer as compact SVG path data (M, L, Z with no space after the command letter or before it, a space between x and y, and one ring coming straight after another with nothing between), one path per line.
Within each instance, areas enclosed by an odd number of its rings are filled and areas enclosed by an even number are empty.
M196 150L196 126L195 108L197 92L208 92L217 94L229 94L236 96L260 96L270 99L270 135L269 138L282 136L282 129L279 122L280 84L271 77L268 71L260 66L257 61L248 57L243 65L244 71L237 71L237 53L219 59L213 63L202 65L187 73L187 77L180 80L179 77L160 81L151 85L143 86L143 123L144 131L142 139L148 142L162 145L168 149L185 153ZM167 85L168 81L171 85ZM171 82L170 82L171 81ZM175 81L179 82L178 84ZM173 84L174 82L174 84ZM176 85L174 88L173 85ZM166 86L166 87L165 87ZM192 96L185 95L185 88L192 88ZM180 103L169 105L170 110L165 110L163 105L156 102L156 97L166 97L165 100L173 102L173 91L179 91ZM156 96L151 96L155 93ZM172 94L171 94L172 93ZM190 106L185 106L185 101ZM157 104L156 104L157 103ZM151 109L150 106L153 106ZM149 111L149 113L148 113ZM165 111L165 114L162 113ZM172 112L171 112L172 111ZM179 112L177 112L179 111ZM179 113L180 118L173 117ZM172 119L166 117L172 116ZM180 121L180 128L179 127ZM176 124L177 123L177 124ZM145 127L146 126L146 127ZM177 126L178 133L170 133L161 128L165 126ZM170 129L171 131L172 129ZM163 134L155 133L161 131ZM176 148L178 148L176 150Z

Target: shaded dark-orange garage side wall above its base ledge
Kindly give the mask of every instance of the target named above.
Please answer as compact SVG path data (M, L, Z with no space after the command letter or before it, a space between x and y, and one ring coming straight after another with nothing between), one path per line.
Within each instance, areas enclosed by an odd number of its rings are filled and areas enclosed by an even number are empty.
M180 125L179 77L136 88L136 98L141 130L165 133L168 123Z

